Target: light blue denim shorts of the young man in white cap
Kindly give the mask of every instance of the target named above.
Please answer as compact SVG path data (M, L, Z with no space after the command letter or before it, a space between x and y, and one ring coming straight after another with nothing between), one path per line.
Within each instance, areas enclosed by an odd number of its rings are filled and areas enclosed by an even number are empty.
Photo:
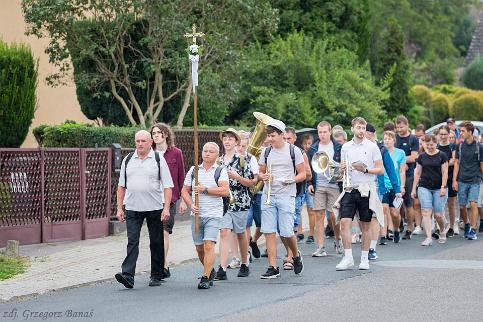
M262 233L279 232L281 237L292 237L295 223L295 197L271 195L270 205L266 205L267 195L262 195Z

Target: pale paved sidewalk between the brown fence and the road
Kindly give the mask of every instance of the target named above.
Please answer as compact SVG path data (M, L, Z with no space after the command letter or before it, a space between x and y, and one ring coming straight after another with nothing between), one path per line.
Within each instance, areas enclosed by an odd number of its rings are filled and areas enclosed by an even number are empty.
M126 245L127 237L123 233L75 242L21 246L20 255L30 257L30 267L24 274L0 281L0 301L113 279L114 274L121 270ZM189 220L176 223L170 247L169 266L197 258ZM149 236L144 225L136 273L150 269Z

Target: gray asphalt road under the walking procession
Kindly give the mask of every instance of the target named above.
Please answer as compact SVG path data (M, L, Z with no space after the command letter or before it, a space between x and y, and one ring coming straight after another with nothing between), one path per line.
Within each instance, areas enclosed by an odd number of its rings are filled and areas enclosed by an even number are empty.
M228 281L198 290L201 265L191 263L173 268L160 287L148 287L144 275L132 290L113 279L2 303L0 320L483 321L482 240L455 237L431 247L419 246L421 240L378 246L380 259L369 272L337 272L340 257L331 247L329 257L312 258L314 246L300 244L301 276L283 271L277 280L261 280L267 265L261 258L251 264L250 277L229 270ZM355 267L359 249L355 245Z

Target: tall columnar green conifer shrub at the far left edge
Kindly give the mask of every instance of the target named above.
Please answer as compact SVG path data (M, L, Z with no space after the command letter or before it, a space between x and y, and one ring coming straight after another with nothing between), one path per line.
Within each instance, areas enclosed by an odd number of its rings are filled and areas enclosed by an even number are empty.
M0 41L0 146L18 148L35 113L38 63L26 45Z

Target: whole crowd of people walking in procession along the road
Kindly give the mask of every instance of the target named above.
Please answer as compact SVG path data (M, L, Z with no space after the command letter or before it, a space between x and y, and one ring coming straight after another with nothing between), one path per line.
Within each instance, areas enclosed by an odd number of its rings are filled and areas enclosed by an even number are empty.
M471 122L456 126L453 119L434 133L426 134L422 125L413 133L404 116L386 123L379 137L372 124L357 117L351 140L341 126L322 121L316 138L304 134L296 146L296 131L271 119L258 158L247 152L250 133L228 128L220 133L223 153L219 143L206 143L201 164L185 175L168 125L139 131L136 151L121 166L117 217L126 221L128 245L122 272L115 277L127 288L134 286L144 218L150 236L149 285L170 277L166 257L178 199L180 213L191 210L192 238L203 266L199 289L226 280L229 268L238 269L240 278L249 276L252 258L259 257L268 261L260 278L279 278L277 234L285 247L282 269L297 275L304 269L298 249L304 240L314 245L313 257L326 257L332 238L333 251L342 255L336 270L354 266L357 242L358 268L368 270L378 258L377 246L388 242L420 234L425 236L421 246L445 244L457 235L476 240L483 231L479 133ZM317 166L321 153L328 166ZM262 235L264 253L258 247Z

